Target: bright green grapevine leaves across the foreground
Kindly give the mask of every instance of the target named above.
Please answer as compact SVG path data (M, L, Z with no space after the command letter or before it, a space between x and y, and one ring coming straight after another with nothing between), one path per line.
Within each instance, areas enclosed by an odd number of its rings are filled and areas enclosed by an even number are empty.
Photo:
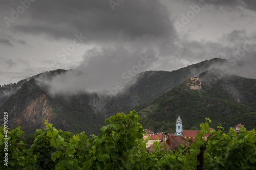
M190 147L181 144L176 150L164 150L156 145L154 152L145 149L142 137L145 132L138 123L140 117L134 110L130 114L117 113L105 120L98 136L89 138L85 132L63 132L45 123L38 129L32 145L20 141L20 127L8 129L8 166L2 162L0 169L196 169L200 148L204 148L205 169L254 169L256 164L255 130L245 128L237 134L233 129L224 133L222 127L209 133L208 122ZM0 156L5 155L4 127L0 127ZM14 145L18 143L19 145ZM23 145L24 144L24 145ZM162 149L161 149L162 148Z

